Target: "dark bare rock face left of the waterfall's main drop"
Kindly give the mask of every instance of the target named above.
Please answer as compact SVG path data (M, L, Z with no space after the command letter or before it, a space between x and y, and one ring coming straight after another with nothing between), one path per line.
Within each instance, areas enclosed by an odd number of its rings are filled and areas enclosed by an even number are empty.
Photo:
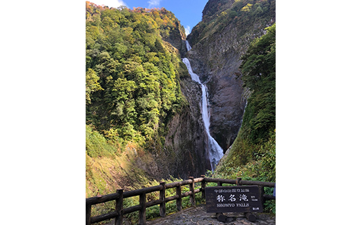
M182 79L182 93L189 106L173 117L168 124L166 151L174 162L170 174L188 178L200 176L211 169L208 153L205 150L205 132L200 114L201 89L189 77Z

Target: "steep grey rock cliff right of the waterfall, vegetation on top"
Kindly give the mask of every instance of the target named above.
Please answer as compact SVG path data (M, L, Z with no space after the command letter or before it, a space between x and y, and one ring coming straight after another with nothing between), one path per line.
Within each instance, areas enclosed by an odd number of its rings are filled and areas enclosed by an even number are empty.
M210 132L224 151L235 140L249 95L236 79L240 58L274 22L274 0L210 0L187 37L192 46L187 57L209 91Z

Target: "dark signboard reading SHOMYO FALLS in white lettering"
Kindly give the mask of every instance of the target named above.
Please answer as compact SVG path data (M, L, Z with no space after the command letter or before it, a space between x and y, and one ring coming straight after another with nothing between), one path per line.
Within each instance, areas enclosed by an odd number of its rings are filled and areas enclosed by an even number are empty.
M205 187L206 212L262 212L259 187Z

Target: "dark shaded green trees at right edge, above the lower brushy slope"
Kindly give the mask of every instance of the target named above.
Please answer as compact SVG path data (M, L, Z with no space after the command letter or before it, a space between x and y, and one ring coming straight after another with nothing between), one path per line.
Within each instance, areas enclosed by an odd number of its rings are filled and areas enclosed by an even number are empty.
M265 141L275 129L276 25L254 40L242 56L242 81L253 91L248 100L244 122L245 137L253 143Z

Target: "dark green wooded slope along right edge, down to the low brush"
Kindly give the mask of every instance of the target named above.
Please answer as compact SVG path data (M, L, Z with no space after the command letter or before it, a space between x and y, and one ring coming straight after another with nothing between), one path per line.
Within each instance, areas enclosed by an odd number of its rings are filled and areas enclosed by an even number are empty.
M251 42L246 54L242 56L241 79L243 86L249 88L251 95L244 112L242 127L230 150L230 156L228 156L228 162L235 166L260 160L258 155L268 155L267 150L271 148L262 146L272 139L271 135L274 135L275 139L275 37L276 25L273 24L267 28L264 36ZM264 150L260 150L261 148ZM267 160L270 160L269 158Z

